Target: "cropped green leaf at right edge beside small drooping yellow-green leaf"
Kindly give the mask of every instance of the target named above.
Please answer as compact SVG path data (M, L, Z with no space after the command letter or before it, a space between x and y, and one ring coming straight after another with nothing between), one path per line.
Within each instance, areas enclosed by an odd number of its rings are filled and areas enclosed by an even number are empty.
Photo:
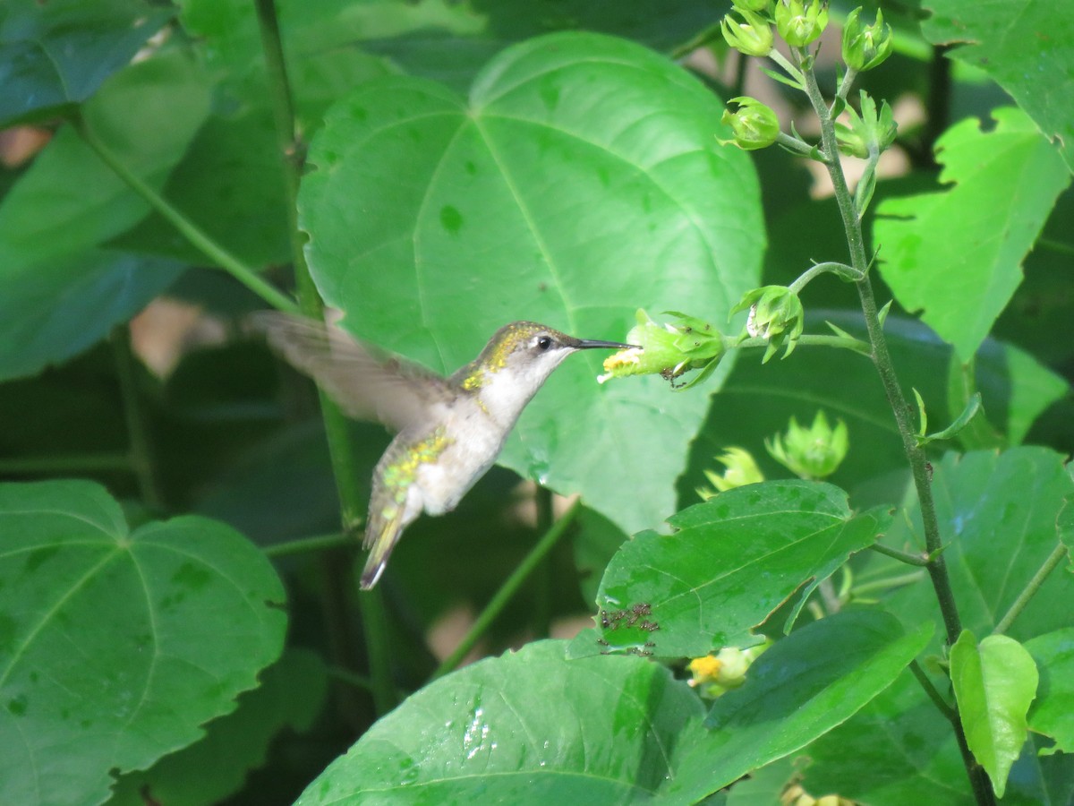
M1026 642L1036 661L1041 687L1029 711L1031 731L1050 736L1053 751L1074 752L1074 628Z

